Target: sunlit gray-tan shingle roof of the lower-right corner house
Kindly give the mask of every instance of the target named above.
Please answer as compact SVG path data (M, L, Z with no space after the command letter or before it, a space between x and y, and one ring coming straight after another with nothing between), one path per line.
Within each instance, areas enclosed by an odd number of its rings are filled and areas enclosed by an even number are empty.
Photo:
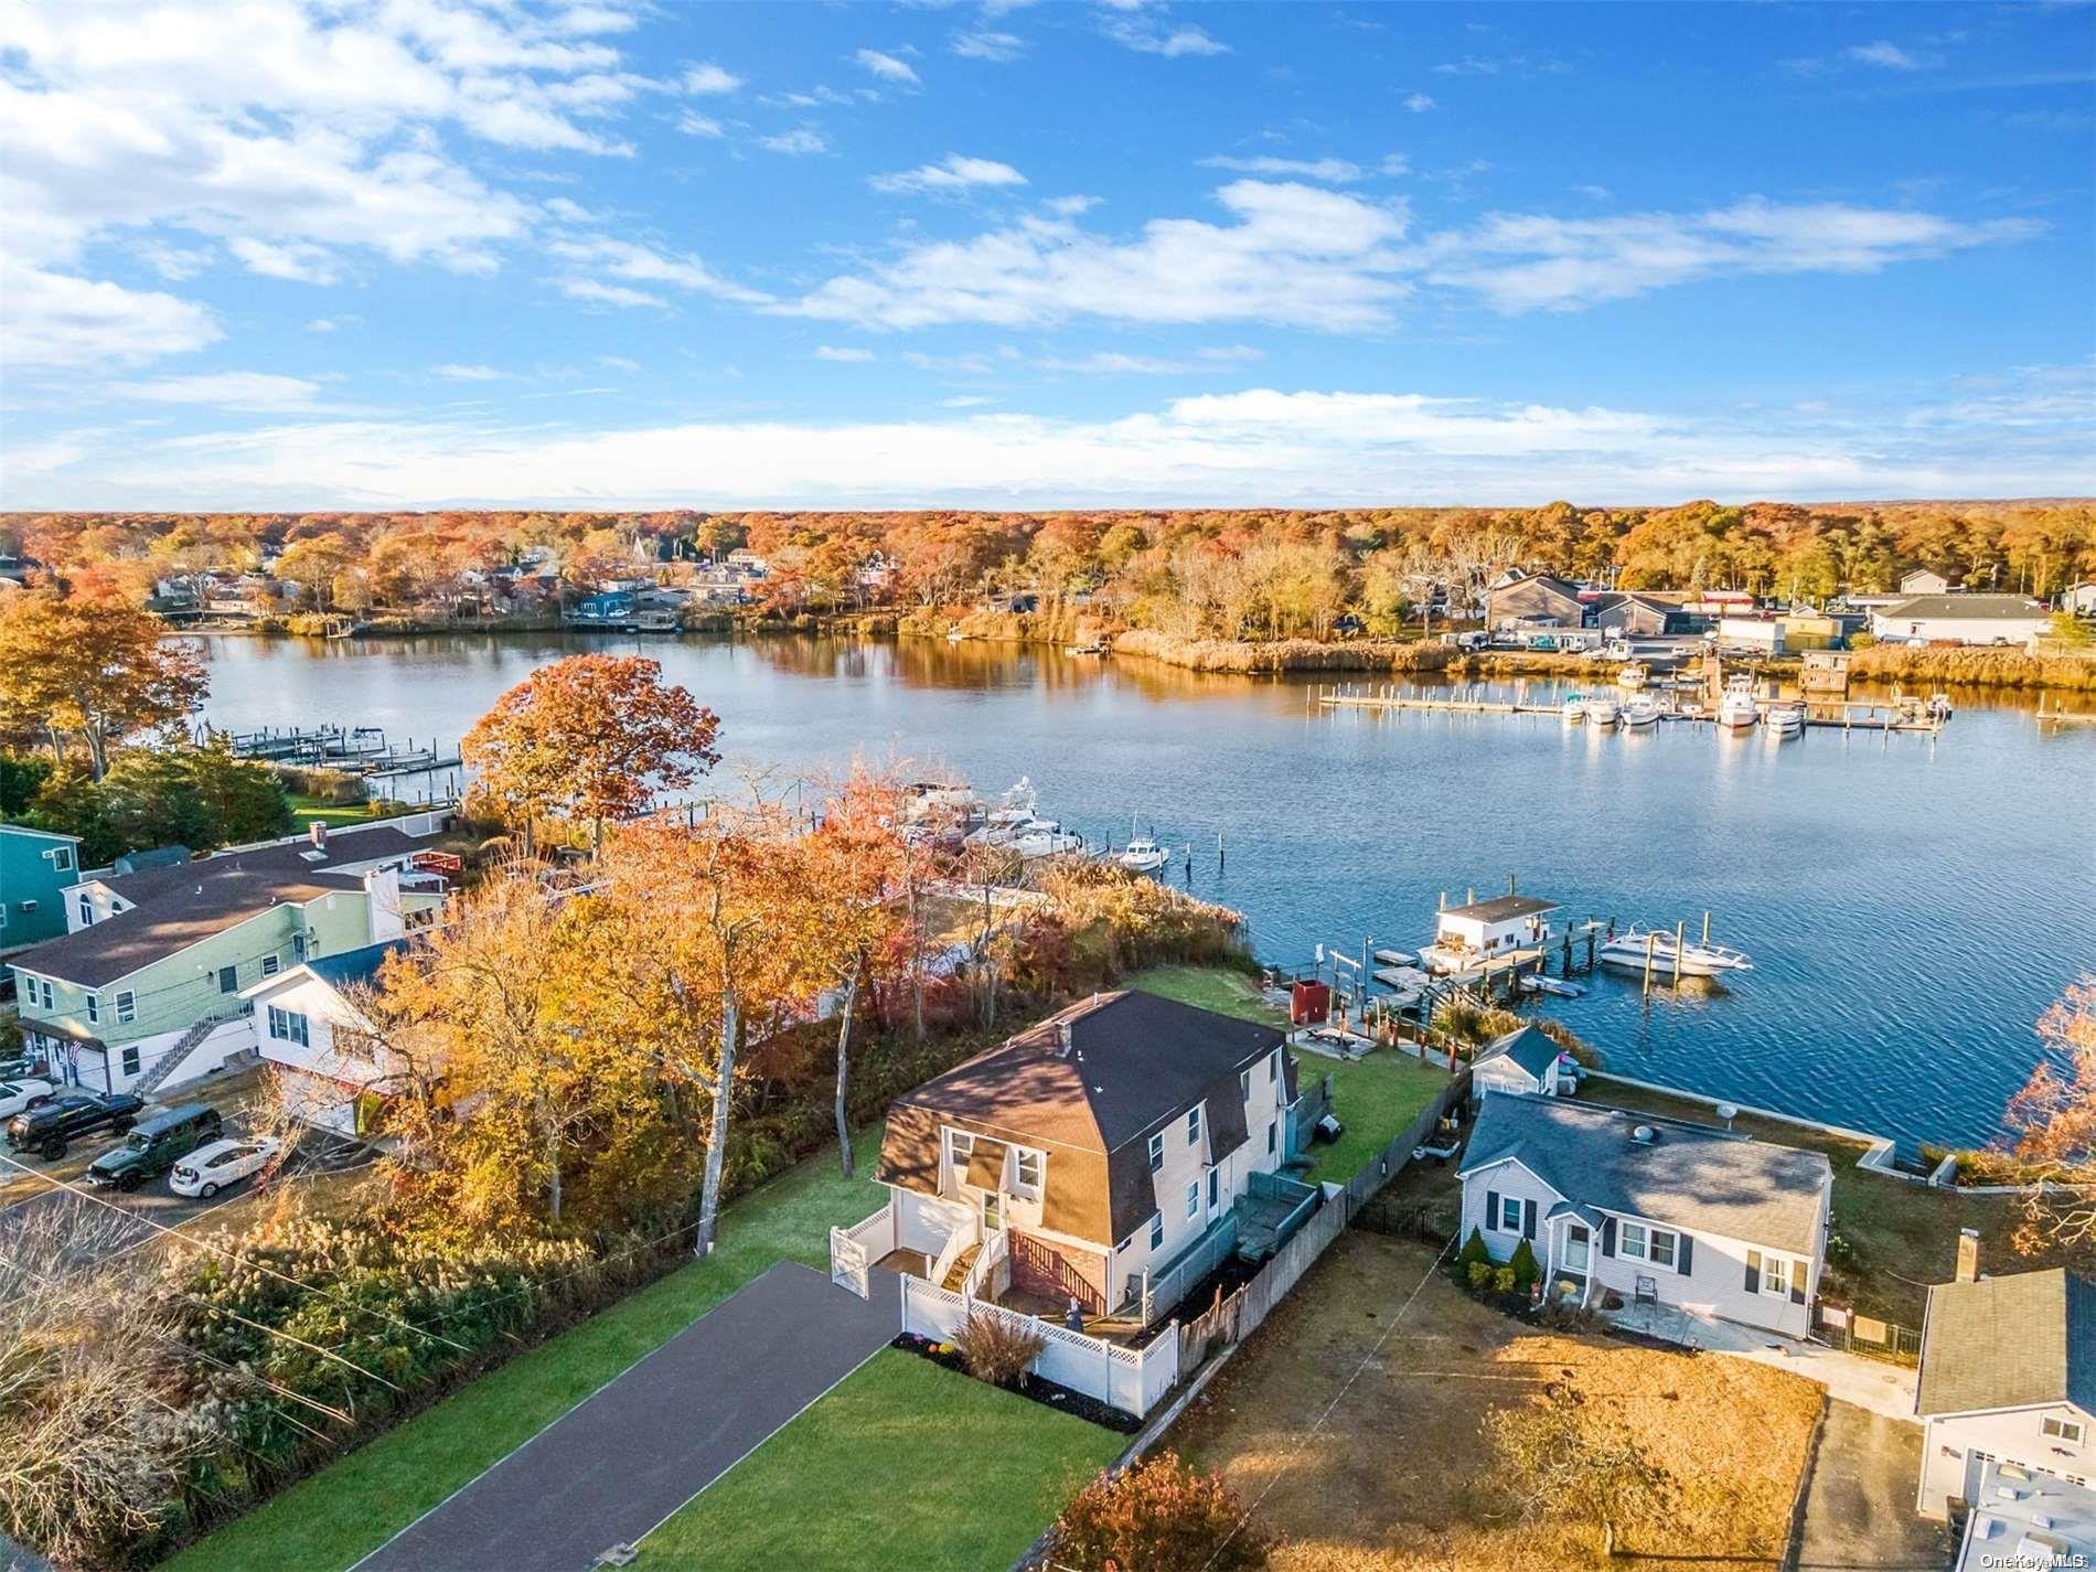
M2052 1268L1928 1289L1914 1411L2037 1402L2096 1415L2096 1281Z

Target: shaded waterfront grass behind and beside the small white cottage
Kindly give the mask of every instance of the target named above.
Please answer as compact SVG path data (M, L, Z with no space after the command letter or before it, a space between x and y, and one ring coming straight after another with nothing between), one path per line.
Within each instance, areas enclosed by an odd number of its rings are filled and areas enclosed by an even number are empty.
M1580 1096L1641 1113L1660 1113L1694 1123L1721 1123L1708 1102L1645 1092L1612 1082L1587 1082ZM1817 1130L1740 1115L1733 1130L1786 1147L1824 1151L1834 1163L1834 1232L1851 1251L1847 1262L1830 1262L1832 1289L1847 1291L1855 1308L1901 1327L1920 1329L1928 1304L1926 1283L1949 1283L1958 1266L1958 1230L1979 1228L1981 1268L2027 1272L2060 1264L2044 1256L2012 1256L2016 1197L1958 1195L1907 1184L1857 1170L1868 1149Z

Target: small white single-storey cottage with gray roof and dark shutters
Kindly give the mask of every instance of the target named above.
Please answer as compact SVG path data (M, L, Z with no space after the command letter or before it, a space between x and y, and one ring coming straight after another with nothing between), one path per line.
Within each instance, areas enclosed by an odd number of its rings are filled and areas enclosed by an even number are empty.
M1459 1172L1463 1239L1528 1241L1545 1281L1803 1337L1826 1260L1824 1153L1551 1096L1486 1092Z

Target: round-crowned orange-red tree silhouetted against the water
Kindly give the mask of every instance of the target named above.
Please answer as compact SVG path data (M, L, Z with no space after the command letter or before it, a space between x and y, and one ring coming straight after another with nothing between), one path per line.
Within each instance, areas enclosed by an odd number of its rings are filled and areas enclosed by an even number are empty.
M604 822L643 813L660 790L711 769L719 717L641 656L568 656L539 667L482 715L459 748L474 796L530 834L541 817Z

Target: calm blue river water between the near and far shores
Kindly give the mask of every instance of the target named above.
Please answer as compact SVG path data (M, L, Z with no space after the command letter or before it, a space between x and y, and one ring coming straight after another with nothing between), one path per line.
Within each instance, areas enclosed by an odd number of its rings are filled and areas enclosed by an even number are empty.
M459 734L534 664L631 639L216 639L210 719ZM1029 776L1094 838L1130 813L1193 845L1174 882L1308 962L1417 947L1442 891L1509 872L1570 916L1752 954L1729 994L1641 1000L1603 977L1549 1010L1612 1069L1903 1142L1981 1142L2037 1056L2031 1021L2096 970L2096 725L1972 706L1941 738L1702 725L1601 736L1555 717L1320 713L1312 683L964 643L650 639L738 765L910 757L979 788ZM1530 683L1530 696L1553 692ZM1218 866L1216 834L1226 861Z

